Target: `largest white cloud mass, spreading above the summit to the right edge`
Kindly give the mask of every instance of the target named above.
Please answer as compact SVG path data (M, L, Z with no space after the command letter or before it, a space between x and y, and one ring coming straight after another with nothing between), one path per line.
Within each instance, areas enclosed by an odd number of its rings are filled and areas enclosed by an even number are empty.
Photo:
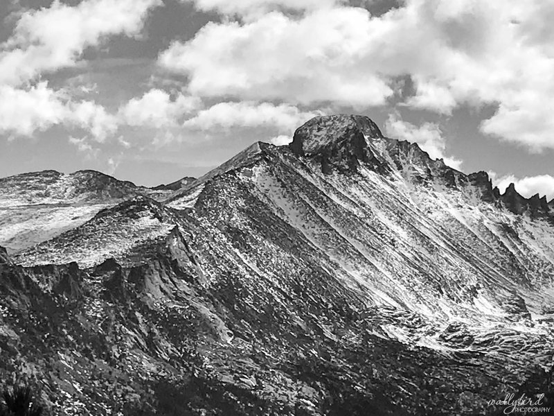
M483 133L554 148L551 2L406 0L378 17L308 0L296 14L279 11L287 0L196 4L262 12L209 23L161 53L161 66L190 79L190 94L364 109L391 103L395 79L410 76L415 94L404 105L447 115L460 105L498 105Z

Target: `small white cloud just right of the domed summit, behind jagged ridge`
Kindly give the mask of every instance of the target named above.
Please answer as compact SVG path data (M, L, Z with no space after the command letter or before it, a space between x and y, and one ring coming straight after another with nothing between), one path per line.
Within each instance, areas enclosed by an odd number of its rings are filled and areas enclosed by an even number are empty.
M420 126L399 119L397 114L390 114L385 123L388 137L417 143L422 150L429 153L432 159L444 159L445 164L460 169L462 161L445 157L446 141L443 132L436 123L423 123Z

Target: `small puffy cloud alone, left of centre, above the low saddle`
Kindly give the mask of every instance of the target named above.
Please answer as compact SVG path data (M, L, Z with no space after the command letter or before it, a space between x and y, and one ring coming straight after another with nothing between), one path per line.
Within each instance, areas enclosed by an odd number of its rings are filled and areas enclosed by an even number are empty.
M201 105L202 101L193 96L178 94L172 99L161 89L151 89L141 98L133 98L121 107L119 116L127 125L172 128Z

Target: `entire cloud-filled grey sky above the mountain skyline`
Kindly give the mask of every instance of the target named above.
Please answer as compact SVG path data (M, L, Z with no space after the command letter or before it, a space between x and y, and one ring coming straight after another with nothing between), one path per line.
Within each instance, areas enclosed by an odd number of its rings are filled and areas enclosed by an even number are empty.
M554 2L1 0L0 177L154 186L322 114L554 198Z

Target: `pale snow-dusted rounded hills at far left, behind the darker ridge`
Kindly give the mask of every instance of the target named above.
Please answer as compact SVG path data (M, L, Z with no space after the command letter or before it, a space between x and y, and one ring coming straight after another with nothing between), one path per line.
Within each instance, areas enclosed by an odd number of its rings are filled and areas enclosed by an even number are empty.
M78 227L102 209L134 196L163 200L186 177L152 189L96 171L24 173L0 179L0 245L10 252Z

